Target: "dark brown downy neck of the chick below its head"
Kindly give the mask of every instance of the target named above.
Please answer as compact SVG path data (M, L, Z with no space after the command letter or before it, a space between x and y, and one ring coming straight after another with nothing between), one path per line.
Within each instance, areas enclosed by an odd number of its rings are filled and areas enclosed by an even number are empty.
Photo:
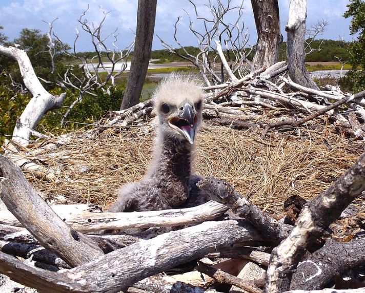
M169 177L171 180L188 182L191 175L193 145L159 133L151 176Z

